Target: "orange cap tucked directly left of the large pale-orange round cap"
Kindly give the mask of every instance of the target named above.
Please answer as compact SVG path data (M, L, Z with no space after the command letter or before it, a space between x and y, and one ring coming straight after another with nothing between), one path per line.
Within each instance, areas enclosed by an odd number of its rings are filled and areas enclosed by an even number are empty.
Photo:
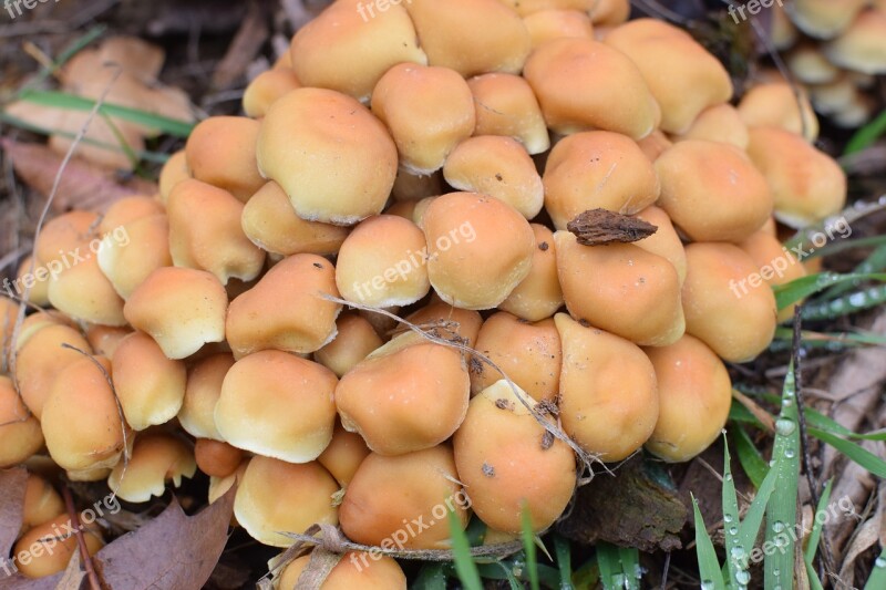
M198 123L185 145L194 178L248 200L265 184L256 166L260 126L239 116L212 116Z

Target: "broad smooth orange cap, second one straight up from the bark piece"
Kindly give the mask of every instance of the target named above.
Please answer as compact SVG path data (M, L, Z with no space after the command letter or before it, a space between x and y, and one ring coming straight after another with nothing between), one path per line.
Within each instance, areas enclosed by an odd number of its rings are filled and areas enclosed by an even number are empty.
M600 128L639 139L656 127L658 106L637 65L600 42L545 43L529 55L523 75L557 133Z

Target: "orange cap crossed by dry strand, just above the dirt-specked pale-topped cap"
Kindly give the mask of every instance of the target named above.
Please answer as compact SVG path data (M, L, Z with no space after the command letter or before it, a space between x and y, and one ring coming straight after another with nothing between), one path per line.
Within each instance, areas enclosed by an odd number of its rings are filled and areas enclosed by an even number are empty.
M473 359L472 393L493 387L506 375L536 402L556 401L563 351L554 320L529 323L499 311L483 322L475 350L488 356L504 375L481 359Z

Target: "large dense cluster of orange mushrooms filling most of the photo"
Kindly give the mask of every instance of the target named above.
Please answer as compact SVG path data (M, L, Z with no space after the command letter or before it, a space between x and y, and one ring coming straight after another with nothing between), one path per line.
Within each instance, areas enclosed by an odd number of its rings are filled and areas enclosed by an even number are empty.
M196 126L159 195L45 225L16 284L52 310L13 339L0 300L0 466L45 449L130 503L199 468L209 501L237 483L261 544L330 524L378 546L423 518L409 550L449 547L435 508L460 495L486 542L524 509L550 527L569 442L605 463L701 453L724 361L767 348L771 284L804 273L759 280L790 256L775 219L824 219L846 182L790 93L735 107L689 34L628 12L334 2L250 83L247 116ZM96 253L62 265L78 248ZM40 531L66 516L31 477ZM405 587L393 559L362 563L323 588Z

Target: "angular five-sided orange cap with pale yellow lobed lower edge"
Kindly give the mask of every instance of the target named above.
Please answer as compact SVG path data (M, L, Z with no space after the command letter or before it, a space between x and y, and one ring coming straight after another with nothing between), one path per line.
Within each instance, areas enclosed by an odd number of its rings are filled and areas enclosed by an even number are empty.
M169 359L184 359L207 342L225 340L228 297L209 272L159 268L130 296L126 320L153 338Z

